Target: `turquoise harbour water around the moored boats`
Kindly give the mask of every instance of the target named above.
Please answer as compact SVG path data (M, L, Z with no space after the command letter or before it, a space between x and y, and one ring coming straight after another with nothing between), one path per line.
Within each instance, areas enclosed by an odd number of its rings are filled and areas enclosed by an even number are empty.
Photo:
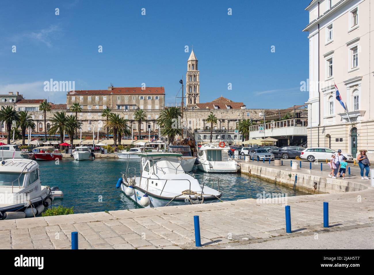
M64 198L55 199L53 205L74 206L74 213L110 211L139 208L126 197L116 183L126 170L125 159L95 159L94 161L74 161L63 159L58 165L54 161L38 162L42 185L58 186L64 192ZM140 161L130 161L129 167L139 171ZM257 198L257 193L287 193L288 196L306 195L304 192L288 187L276 186L257 177L241 174L196 174L220 178L221 199Z

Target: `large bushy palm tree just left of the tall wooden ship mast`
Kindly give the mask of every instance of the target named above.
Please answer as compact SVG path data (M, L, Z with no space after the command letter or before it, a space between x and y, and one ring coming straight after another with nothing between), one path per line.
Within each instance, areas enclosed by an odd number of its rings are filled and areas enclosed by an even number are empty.
M181 117L180 107L170 107L160 112L160 116L157 119L157 124L160 126L160 134L167 135L169 142L172 144L176 135L181 135L181 129L177 129L173 126L174 119Z

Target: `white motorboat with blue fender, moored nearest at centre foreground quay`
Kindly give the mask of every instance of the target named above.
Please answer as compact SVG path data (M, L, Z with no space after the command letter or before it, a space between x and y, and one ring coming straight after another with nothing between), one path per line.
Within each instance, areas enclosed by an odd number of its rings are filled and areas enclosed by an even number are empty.
M182 168L181 154L172 153L168 144L164 145L168 149L138 153L141 157L140 176L135 168L128 168L127 165L126 172L121 172L122 177L118 179L116 187L146 208L220 200L218 178L202 176L200 184L196 179L199 175L192 176ZM213 189L213 186L217 186L218 190Z

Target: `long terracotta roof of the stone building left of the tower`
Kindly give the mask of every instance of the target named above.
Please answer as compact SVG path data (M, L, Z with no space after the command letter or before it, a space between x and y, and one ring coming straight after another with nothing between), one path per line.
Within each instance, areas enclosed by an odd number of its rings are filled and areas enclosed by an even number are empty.
M111 90L76 90L68 92L68 95L165 95L164 87L113 87Z

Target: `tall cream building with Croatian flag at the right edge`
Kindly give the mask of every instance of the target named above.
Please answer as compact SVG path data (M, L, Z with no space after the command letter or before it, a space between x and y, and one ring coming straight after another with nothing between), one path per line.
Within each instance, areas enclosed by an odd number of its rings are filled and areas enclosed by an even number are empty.
M313 0L309 24L308 146L374 158L374 91L371 57L374 1ZM373 47L374 49L374 47ZM336 99L335 85L346 110Z

